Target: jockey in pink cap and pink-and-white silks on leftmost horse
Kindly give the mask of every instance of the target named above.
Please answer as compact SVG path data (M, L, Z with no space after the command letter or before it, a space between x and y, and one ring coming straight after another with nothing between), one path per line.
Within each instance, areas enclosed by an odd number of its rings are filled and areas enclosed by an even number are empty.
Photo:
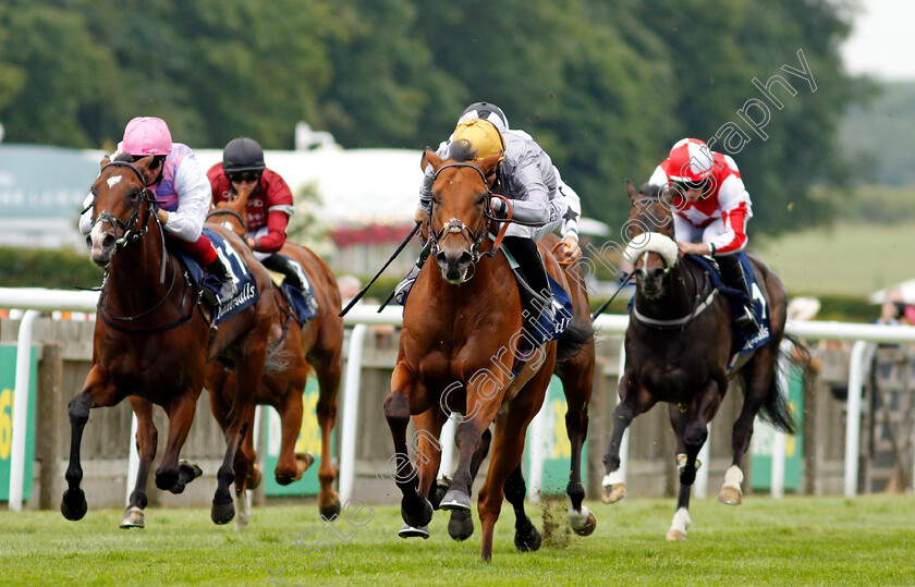
M152 162L144 179L156 196L159 205L156 213L167 236L219 279L220 302L231 299L237 293L234 278L203 234L210 203L210 185L204 170L191 147L172 143L166 121L137 117L124 129L124 139L118 145L114 160L134 162L150 155ZM80 228L84 234L91 230L90 210L80 219Z

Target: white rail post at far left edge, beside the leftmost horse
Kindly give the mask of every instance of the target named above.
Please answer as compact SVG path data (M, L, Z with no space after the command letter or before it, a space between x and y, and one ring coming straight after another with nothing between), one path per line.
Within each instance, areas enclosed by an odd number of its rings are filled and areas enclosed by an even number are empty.
M16 389L13 400L13 445L10 457L10 511L22 511L25 474L32 475L32 463L25 463L25 429L28 426L28 388L32 375L32 327L38 311L25 311L16 339ZM28 469L26 472L26 468Z

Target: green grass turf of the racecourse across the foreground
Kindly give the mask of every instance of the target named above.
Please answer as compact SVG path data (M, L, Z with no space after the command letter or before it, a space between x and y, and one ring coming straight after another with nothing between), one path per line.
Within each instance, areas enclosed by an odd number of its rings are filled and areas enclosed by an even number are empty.
M402 540L396 506L373 506L363 527L339 519L347 543L320 527L313 504L256 509L244 533L212 525L206 510L150 509L143 530L119 529L121 513L110 510L77 523L58 512L2 512L0 585L271 585L268 571L289 586L915 584L912 496L749 496L740 507L694 500L686 542L664 541L672 499L590 506L594 535L545 541L533 553L515 550L503 509L488 564L478 519L465 542L448 538L441 512L430 539ZM542 529L540 507L528 504L528 513ZM296 537L312 526L302 552ZM330 551L307 551L321 539L334 551L317 567Z

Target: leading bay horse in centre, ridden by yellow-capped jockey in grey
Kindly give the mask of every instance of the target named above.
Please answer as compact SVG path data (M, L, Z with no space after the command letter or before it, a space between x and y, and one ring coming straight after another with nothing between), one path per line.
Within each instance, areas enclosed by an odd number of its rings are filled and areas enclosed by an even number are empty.
M492 457L477 503L483 526L480 557L489 561L502 498L521 479L524 435L544 402L556 363L576 353L593 331L573 321L559 341L523 356L520 345L529 333L524 328L518 288L505 256L497 255L496 244L487 239L492 215L486 175L499 155L468 162L469 152L459 150L452 146L450 155L455 159L442 159L430 149L425 154L435 170L429 239L437 262L424 266L406 299L398 362L383 409L394 443L395 482L403 496L401 515L413 528L427 526L432 517L427 496L440 452L429 444L440 437L448 414L463 413L464 418L455 433L457 468L439 504L443 510L471 511L471 484L484 449L484 431L496 421ZM546 254L544 262L568 291L556 259ZM526 362L513 376L515 358ZM407 452L411 415L420 431L417 451L427 451L420 464L422 487ZM526 516L522 526L521 539L527 549L539 535Z

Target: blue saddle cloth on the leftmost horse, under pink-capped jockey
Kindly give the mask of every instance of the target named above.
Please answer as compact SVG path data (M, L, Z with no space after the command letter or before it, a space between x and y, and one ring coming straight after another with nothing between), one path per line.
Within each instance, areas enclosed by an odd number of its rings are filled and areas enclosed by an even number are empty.
M239 293L232 299L215 308L216 317L213 318L213 322L219 325L231 316L255 304L260 298L260 292L257 289L257 281L254 279L254 273L248 270L242 256L232 248L232 245L221 234L211 229L205 228L204 234L212 242L212 246L216 247L216 254L229 267L232 279L235 280L235 285L239 288ZM187 270L187 274L191 276L191 281L195 285L204 286L213 292L217 297L219 296L219 290L222 284L216 276L206 273L203 267L193 257L181 250L180 247L171 246L169 247L169 252L181 260ZM227 260L228 262L225 262Z

